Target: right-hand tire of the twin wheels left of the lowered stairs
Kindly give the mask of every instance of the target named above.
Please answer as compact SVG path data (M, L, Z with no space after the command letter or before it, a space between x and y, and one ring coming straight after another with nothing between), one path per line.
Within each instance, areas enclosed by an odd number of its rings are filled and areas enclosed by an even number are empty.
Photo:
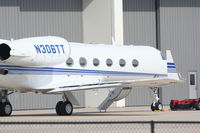
M70 101L66 101L60 106L61 115L71 115L73 112L73 105Z

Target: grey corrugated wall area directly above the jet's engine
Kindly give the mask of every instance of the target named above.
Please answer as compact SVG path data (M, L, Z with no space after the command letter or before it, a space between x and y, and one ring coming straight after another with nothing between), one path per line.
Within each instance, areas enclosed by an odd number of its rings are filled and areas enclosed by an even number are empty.
M81 0L0 0L0 37L57 35L82 41Z

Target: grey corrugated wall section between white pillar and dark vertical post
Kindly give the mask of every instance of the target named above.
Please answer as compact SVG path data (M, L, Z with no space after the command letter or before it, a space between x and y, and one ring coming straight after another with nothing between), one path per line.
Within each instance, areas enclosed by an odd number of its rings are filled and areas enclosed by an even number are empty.
M155 0L124 0L124 43L156 47ZM134 88L126 106L149 105L148 88Z

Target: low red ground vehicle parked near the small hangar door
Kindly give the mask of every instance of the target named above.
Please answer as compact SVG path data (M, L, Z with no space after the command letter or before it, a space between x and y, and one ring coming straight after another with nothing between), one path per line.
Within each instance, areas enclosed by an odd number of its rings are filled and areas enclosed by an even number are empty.
M198 99L185 99L179 101L177 99L171 100L170 109L175 111L178 109L196 109L200 110L200 98Z

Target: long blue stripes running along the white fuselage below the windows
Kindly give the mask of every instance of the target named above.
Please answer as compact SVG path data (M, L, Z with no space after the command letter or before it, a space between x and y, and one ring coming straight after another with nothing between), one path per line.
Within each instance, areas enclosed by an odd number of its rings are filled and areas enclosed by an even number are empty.
M143 76L167 76L167 74L157 73L140 73L140 72L122 72L122 71L105 71L105 70L88 70L88 69L69 69L69 68L51 68L51 67L23 67L12 65L0 65L0 68L8 69L9 74L37 74L37 75L52 75L52 74L99 74L99 75L143 75ZM42 72L42 73L41 73Z

